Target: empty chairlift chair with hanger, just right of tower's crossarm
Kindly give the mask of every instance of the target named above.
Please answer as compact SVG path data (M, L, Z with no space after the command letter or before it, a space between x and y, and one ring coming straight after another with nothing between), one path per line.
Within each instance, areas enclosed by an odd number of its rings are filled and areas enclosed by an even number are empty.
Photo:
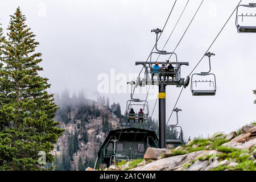
M209 57L209 67L210 67L210 57L215 56L214 53L206 53L205 56ZM211 68L210 68L211 69ZM208 77L212 76L213 80L195 80L193 76L201 76L201 77ZM204 87L203 89L200 88L201 85L209 87ZM194 73L191 77L191 92L193 96L215 96L216 94L216 77L213 73L208 72L201 72L201 73Z

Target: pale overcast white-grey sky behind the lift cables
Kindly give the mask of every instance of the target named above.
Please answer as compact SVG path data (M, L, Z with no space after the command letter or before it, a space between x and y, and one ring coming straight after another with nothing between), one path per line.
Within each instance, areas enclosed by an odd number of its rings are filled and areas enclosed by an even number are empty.
M201 59L238 2L204 1L176 49L179 61L189 62L189 67L181 70L182 77L186 77ZM242 1L242 4L249 2ZM166 42L185 3L187 0L177 1L159 39L159 48ZM175 48L200 3L201 0L189 1L166 46L167 51ZM28 27L40 42L38 51L43 53L44 68L41 74L49 78L51 92L67 88L72 94L84 89L88 98L96 99L93 92L101 82L97 80L100 74L106 73L110 77L110 69L115 69L115 75L123 73L127 77L139 73L141 67L135 66L135 61L146 60L155 43L155 34L150 30L163 28L173 4L174 0L1 1L0 23L7 28L9 15L20 6ZM256 13L256 9L248 12ZM241 13L247 13L246 9ZM179 121L186 138L207 136L216 131L229 133L256 120L255 95L252 92L256 88L256 34L238 34L235 18L233 15L210 49L216 53L212 57L212 72L217 79L216 96L193 97L187 88L177 104L182 109ZM250 23L255 25L256 20ZM166 59L160 57L160 60ZM195 72L207 69L205 57ZM167 88L167 118L179 92L180 88ZM128 93L103 95L110 101L120 102L123 111L130 97ZM150 96L152 111L155 96L152 93ZM134 97L145 98L146 94L135 94ZM154 117L158 117L158 107ZM171 122L175 123L175 119L173 115Z

